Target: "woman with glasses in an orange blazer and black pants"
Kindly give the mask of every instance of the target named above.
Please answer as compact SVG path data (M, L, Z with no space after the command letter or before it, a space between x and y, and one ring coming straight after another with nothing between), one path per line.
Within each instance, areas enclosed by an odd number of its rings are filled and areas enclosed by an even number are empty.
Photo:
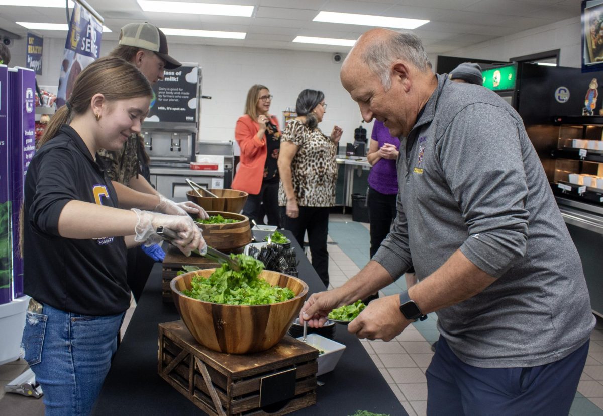
M241 160L232 188L249 194L243 207L245 216L263 224L265 213L268 225L278 226L280 127L277 118L268 113L271 102L270 90L264 85L253 85L247 92L245 114L236 121Z

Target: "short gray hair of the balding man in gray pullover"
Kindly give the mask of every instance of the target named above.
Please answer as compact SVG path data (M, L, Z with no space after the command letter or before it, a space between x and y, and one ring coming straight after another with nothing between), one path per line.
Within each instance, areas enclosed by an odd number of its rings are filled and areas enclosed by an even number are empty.
M421 39L409 32L396 32L389 39L370 45L361 58L381 78L385 89L391 87L390 66L396 59L406 60L421 71L431 69Z

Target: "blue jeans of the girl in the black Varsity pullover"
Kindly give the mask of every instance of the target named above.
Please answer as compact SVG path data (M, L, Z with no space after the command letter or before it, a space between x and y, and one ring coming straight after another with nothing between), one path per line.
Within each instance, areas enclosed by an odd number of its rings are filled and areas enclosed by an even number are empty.
M86 316L44 305L27 312L22 347L46 416L88 415L109 372L124 313Z

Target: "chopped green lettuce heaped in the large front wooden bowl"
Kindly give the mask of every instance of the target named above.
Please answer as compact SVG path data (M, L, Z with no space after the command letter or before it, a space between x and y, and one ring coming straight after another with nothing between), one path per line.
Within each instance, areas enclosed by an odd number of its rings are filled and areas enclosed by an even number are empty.
M231 254L230 257L238 261L241 271L232 270L224 263L207 278L195 276L191 290L183 290L183 293L200 301L227 305L267 305L295 297L291 289L270 286L259 278L264 270L261 261L245 254Z

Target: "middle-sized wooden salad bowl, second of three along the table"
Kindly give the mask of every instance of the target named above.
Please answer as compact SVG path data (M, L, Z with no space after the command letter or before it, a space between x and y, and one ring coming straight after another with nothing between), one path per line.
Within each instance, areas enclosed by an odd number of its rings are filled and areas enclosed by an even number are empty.
M251 243L251 227L247 217L222 211L207 211L209 216L218 214L239 222L230 224L201 224L197 222L197 226L201 229L201 237L208 246L219 251L229 252Z

